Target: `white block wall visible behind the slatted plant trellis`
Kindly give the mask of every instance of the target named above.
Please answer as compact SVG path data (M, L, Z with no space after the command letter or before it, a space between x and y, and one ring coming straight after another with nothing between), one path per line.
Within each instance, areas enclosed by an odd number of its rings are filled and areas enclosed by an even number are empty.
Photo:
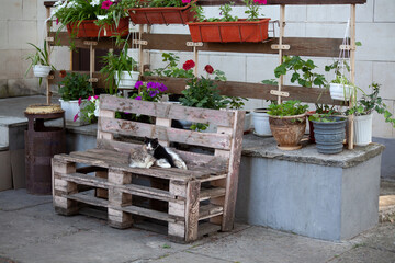
M244 18L242 7L234 8L234 14ZM218 8L205 8L206 16L218 16ZM272 20L280 19L280 8L263 7L261 13ZM381 96L394 114L395 89L395 1L368 0L366 4L357 5L357 41L362 43L357 49L356 84L369 92L372 81L382 84ZM342 38L350 5L287 5L285 9L285 36L292 37L334 37ZM154 33L188 34L187 26L154 26ZM276 30L276 32L279 32ZM228 80L259 82L274 77L278 56L236 53L200 53L200 73L211 64L215 69L225 71ZM182 53L181 62L192 59L191 53ZM319 70L331 64L334 58L313 58ZM153 52L150 62L154 68L162 66L159 52ZM327 77L330 79L331 76ZM289 82L287 82L289 83ZM250 100L247 108L261 107L266 102ZM395 129L384 122L382 115L375 115L373 136L395 138Z

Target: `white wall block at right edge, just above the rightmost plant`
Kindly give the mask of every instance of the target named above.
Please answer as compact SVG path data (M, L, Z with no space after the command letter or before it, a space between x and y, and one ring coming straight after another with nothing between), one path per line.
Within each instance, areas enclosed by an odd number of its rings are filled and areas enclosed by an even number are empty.
M382 84L380 95L386 100L395 100L395 60L394 61L374 61L373 62L373 76L374 81Z

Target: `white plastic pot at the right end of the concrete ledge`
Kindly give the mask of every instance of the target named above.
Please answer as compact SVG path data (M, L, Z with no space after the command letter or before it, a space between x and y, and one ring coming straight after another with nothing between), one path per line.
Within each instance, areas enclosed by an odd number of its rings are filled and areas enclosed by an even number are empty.
M354 117L354 145L366 146L372 142L372 119L373 114Z

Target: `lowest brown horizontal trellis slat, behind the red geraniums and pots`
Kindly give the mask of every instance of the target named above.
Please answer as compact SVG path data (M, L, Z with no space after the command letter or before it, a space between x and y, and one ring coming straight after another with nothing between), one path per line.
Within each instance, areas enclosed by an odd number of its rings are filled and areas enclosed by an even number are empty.
M167 77L143 77L144 81L160 81L169 87L169 92L173 94L181 94L185 89L187 79L167 78ZM219 93L228 96L242 96L249 99L276 100L275 95L270 94L271 90L276 90L276 85L261 84L261 83L246 83L238 81L216 81ZM342 102L334 101L330 98L329 90L318 88L306 88L297 85L283 85L282 91L289 92L287 100L300 100L307 103L320 103L341 105Z

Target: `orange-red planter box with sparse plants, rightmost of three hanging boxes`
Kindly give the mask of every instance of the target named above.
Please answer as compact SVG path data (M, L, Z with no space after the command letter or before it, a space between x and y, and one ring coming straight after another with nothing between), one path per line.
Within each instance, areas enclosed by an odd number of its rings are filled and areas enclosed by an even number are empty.
M232 16L230 4L221 9L221 19L206 19L203 9L194 5L196 22L188 23L193 42L262 42L268 38L270 19L258 19L259 4L266 0L244 0L247 5L247 19Z

